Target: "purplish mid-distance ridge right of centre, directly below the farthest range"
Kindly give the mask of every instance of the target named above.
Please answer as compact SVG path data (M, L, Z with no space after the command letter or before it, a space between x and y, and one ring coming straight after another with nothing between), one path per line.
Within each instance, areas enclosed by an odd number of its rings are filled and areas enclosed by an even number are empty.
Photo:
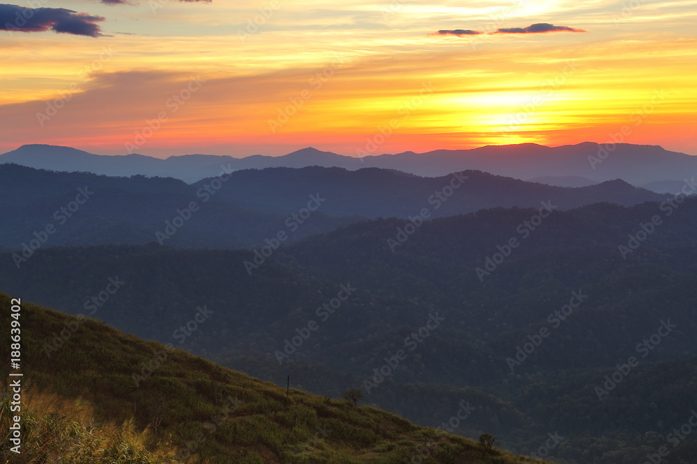
M621 180L570 189L547 186L481 171L462 171L444 177L418 177L378 168L270 168L236 171L220 191L220 199L238 207L288 212L323 198L320 211L330 216L367 218L452 216L493 207L540 207L551 201L559 209L597 202L636 205L664 200L665 195L637 189ZM194 186L210 182L205 179Z

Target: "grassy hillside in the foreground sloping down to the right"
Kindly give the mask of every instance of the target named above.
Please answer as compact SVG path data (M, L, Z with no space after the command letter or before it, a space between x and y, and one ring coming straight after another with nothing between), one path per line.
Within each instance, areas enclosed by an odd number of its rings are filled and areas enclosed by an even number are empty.
M0 319L5 341L0 353L8 360L5 294ZM60 454L70 456L63 462L84 463L403 463L412 457L424 463L533 462L484 451L472 440L376 408L292 389L286 397L272 383L100 321L23 303L20 322L23 399L31 401L25 408L24 452L15 456L7 449L8 383L3 383L3 461L54 461L51 456ZM47 344L61 331L67 340L47 354ZM8 378L5 362L0 375ZM152 374L144 375L149 369ZM143 377L136 381L134 374Z

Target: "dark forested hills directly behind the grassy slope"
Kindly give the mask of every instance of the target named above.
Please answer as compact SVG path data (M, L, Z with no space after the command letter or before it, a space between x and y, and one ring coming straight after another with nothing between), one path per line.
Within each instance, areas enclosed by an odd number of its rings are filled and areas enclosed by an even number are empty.
M408 220L362 221L251 268L248 250L47 248L22 269L6 253L0 288L281 386L291 375L319 394L362 388L426 426L470 401L477 413L456 433L492 433L522 454L558 433L563 446L545 452L559 462L638 462L694 408L697 199L590 205L526 226L538 212L438 218L404 240ZM624 367L631 356L638 365ZM689 435L671 458L694 463L696 449Z

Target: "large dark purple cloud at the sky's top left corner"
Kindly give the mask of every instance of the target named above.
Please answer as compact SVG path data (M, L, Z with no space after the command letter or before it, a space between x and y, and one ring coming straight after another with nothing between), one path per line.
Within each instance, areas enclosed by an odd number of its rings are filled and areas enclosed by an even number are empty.
M0 4L0 31L43 32L50 29L56 33L100 37L102 30L95 23L104 19L66 8L25 8Z

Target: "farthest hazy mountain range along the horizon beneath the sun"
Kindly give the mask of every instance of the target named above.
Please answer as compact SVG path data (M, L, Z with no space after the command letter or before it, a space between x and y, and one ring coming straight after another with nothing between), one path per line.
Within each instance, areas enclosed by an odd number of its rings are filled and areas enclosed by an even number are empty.
M0 163L61 171L87 171L105 175L148 175L174 177L187 183L230 170L305 166L338 167L347 170L385 168L404 173L437 177L461 170L482 170L516 179L546 177L545 183L581 186L583 177L592 182L623 179L659 193L673 192L697 174L697 157L671 152L656 145L597 144L546 147L533 143L500 145L473 150L434 150L426 153L370 154L363 158L323 152L308 147L282 157L252 155L245 158L205 154L158 159L139 154L105 156L52 145L23 145L0 155ZM551 178L551 179L550 179ZM543 182L543 181L540 181ZM585 181L584 181L585 182Z

